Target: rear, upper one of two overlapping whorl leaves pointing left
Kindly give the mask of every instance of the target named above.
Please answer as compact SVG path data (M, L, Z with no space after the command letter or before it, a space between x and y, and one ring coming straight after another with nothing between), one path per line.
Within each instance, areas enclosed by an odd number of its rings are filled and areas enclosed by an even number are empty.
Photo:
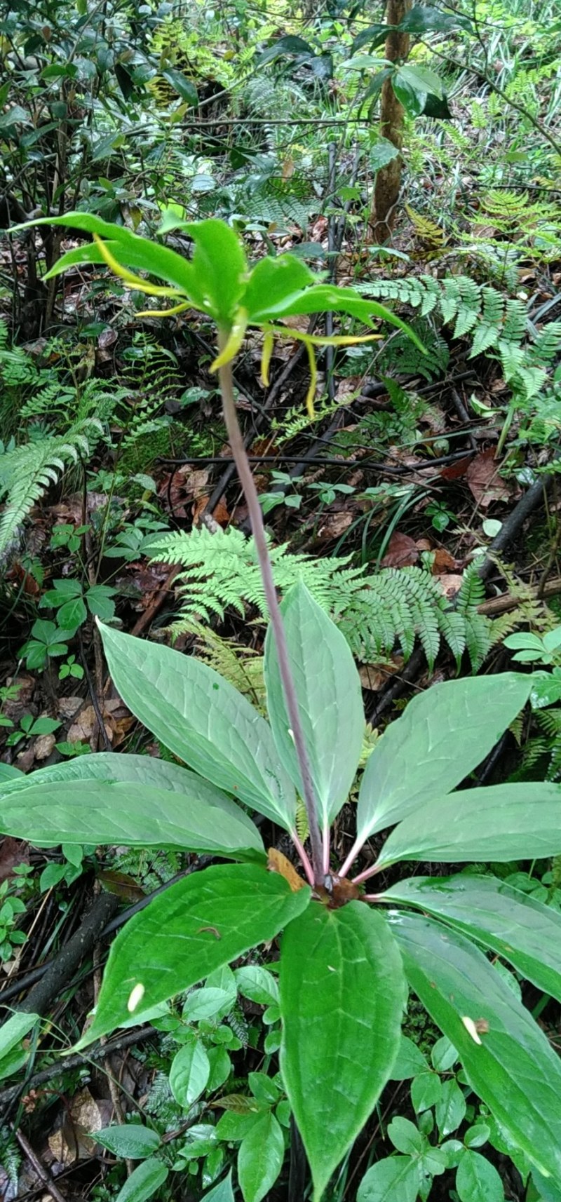
M183 804L185 804L185 798L189 799L187 814L193 807L202 805L204 808L213 805L219 810L223 810L225 814L229 814L231 817L235 819L238 825L245 827L249 834L247 847L262 847L259 837L257 837L258 841L256 843L256 828L251 819L231 797L227 797L226 793L222 793L220 789L216 789L208 780L198 776L197 773L190 772L189 768L183 768L178 763L168 763L166 760L156 760L149 755L127 755L126 752L114 755L108 751L96 751L95 755L78 756L74 760L66 761L66 763L49 764L47 768L40 768L29 775L17 772L14 773L13 783L10 781L10 785L7 783L4 784L0 776L0 802L5 799L7 805L13 809L17 795L22 790L25 791L25 797L22 799L25 802L31 796L29 790L35 789L37 785L55 785L59 781L83 781L88 785L97 780L107 785L121 783L133 785L135 789L139 786L141 790L154 787L168 790L172 793L180 793ZM7 810L4 813L7 813ZM167 813L169 820L172 820L172 814L178 813L177 807L173 811L168 810ZM181 821L184 821L185 814L183 810L181 815ZM130 833L135 834L135 831ZM55 841L60 843L60 839ZM186 847L187 845L183 843L181 846Z

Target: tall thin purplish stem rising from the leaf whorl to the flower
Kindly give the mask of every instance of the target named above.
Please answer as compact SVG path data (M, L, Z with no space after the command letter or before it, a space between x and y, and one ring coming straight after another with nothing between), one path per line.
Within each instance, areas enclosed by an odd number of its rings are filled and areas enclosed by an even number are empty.
M223 350L228 338L228 331L219 331L219 346ZM226 363L220 368L220 391L222 395L223 417L226 423L226 430L229 439L229 445L232 447L232 454L238 469L239 482L244 490L245 500L247 502L247 512L251 522L251 530L253 534L255 546L257 551L257 559L259 564L261 576L263 579L263 589L265 594L267 605L270 614L270 625L273 629L273 637L276 645L276 655L279 660L279 672L282 683L282 691L285 694L286 708L288 710L288 719L291 722L292 736L294 739L296 754L298 758L298 764L300 769L304 805L306 808L308 827L310 831L310 844L311 844L311 862L314 868L314 879L316 885L323 883L323 845L322 837L320 832L320 822L317 819L317 805L316 795L314 790L314 783L311 779L310 764L308 761L308 752L304 742L304 732L300 722L300 714L298 710L298 700L294 689L294 682L292 679L291 665L288 660L288 649L286 645L285 627L282 625L282 617L279 607L279 600L276 596L275 583L273 581L273 570L270 565L269 551L267 547L265 529L263 523L263 513L259 505L259 498L257 495L257 489L255 487L255 480L251 471L250 462L247 459L247 453L244 446L244 440L241 438L241 430L239 428L238 413L235 410L234 391L232 381L232 368L229 363ZM292 835L294 840L294 835ZM297 841L294 845L298 847ZM298 853L300 859L303 859L304 849L298 847ZM305 855L305 852L304 852ZM308 861L308 856L305 857ZM306 863L303 859L304 868ZM308 862L308 867L309 862ZM308 870L306 870L308 876Z

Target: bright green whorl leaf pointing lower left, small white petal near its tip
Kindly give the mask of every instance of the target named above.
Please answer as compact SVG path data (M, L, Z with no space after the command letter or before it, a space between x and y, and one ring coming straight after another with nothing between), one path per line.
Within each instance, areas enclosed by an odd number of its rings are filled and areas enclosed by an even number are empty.
M95 1018L78 1046L274 939L309 900L308 886L292 893L282 876L255 864L219 864L172 885L113 941Z

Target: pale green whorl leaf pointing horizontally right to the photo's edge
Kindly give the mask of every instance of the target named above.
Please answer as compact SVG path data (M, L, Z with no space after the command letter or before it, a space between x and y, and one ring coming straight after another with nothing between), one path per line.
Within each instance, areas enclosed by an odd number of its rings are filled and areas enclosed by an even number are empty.
M542 859L561 851L561 785L491 785L437 797L386 840L378 864L398 859Z

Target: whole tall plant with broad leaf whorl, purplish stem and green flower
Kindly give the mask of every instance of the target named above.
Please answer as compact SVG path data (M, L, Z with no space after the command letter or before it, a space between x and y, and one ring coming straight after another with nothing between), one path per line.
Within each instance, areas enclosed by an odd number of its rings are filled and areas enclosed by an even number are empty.
M180 293L215 317L225 417L271 618L264 655L269 722L209 666L101 626L121 697L180 762L99 754L1 786L1 829L31 843L181 847L233 861L178 881L124 928L78 1046L148 1018L155 1006L280 935L280 1069L315 1202L392 1072L407 986L458 1049L470 1085L525 1152L537 1179L559 1180L561 1064L485 950L561 1000L561 916L494 876L398 876L384 892L371 892L382 869L404 861L455 865L561 852L559 785L454 792L520 712L532 678L455 680L410 702L374 748L360 780L356 839L335 864L330 826L353 785L363 742L360 682L346 639L302 583L279 611L240 448L229 356L241 329L255 323L269 335L273 321L288 313L333 308L364 317L362 307L369 314L372 307L350 290L309 281L308 269L285 256L264 260L247 275L237 239L220 222L189 227L196 251L184 262L97 218L65 220L109 245L71 251L62 264L112 256L120 274L124 263L144 268L173 286L163 287L165 296ZM137 276L130 281L155 287ZM298 797L306 807L310 856L298 835ZM302 876L277 851L267 855L253 811L288 833ZM366 841L376 835L378 845L389 828L375 862L357 871Z

